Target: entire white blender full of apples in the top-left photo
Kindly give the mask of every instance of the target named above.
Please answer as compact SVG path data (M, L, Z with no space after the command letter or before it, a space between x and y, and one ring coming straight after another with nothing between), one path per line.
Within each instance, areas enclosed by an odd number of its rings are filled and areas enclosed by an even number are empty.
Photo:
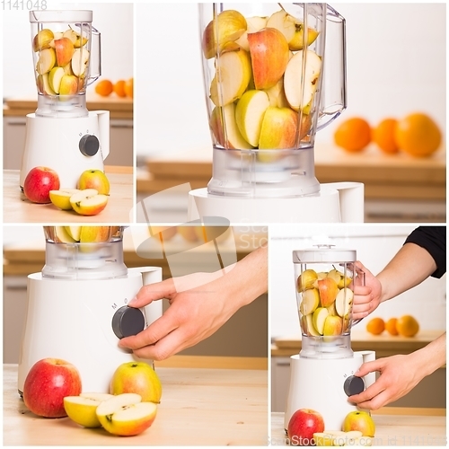
M30 12L38 109L26 117L20 187L33 167L55 170L75 189L85 170L104 170L110 153L109 110L88 111L85 91L101 75L100 33L92 11Z

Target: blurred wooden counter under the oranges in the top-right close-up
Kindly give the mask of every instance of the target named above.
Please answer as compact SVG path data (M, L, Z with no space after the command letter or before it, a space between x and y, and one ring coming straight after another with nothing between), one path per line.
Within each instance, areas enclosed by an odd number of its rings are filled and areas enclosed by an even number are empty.
M348 154L335 145L315 146L315 175L321 183L365 184L365 198L445 201L445 148L428 158L383 154L374 145ZM184 151L170 158L150 157L137 173L137 191L161 191L183 182L192 189L207 186L212 175L212 148Z

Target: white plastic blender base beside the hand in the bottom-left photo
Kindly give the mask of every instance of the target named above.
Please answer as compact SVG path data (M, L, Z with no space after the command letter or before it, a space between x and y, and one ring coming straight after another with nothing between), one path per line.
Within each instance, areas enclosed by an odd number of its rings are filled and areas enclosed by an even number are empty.
M109 392L117 367L138 360L119 348L112 316L146 284L162 280L162 269L128 269L126 277L102 280L28 277L27 313L19 358L18 390L31 366L46 357L62 358L76 366L84 392ZM145 327L159 318L162 301L141 309ZM152 360L144 360L152 365Z

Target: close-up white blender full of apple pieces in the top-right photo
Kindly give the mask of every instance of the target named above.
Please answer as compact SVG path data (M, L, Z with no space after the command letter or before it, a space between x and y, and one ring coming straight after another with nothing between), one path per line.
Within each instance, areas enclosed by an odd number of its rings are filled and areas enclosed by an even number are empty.
M328 4L198 7L213 175L189 217L363 222L363 184L314 173L315 133L346 108L344 18Z

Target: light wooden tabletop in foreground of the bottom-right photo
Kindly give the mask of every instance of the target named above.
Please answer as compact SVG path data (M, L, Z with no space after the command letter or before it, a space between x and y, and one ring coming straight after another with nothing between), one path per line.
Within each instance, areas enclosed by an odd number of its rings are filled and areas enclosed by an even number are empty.
M445 409L385 407L372 412L375 446L446 445ZM271 414L271 445L286 445L284 413Z

